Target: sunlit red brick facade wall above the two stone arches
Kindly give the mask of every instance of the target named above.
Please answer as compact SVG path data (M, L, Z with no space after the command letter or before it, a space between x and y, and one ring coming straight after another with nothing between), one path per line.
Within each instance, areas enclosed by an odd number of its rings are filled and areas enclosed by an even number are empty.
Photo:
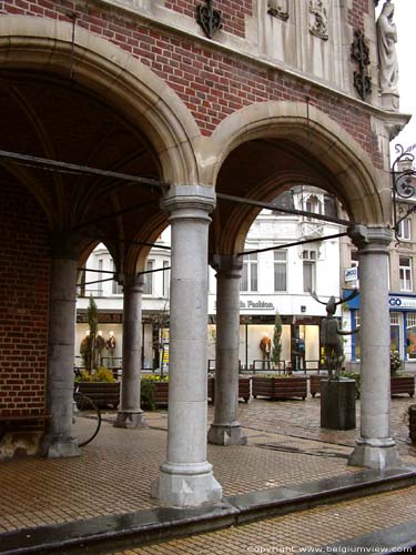
M354 17L362 20L364 11L368 12L369 1L354 0ZM180 0L171 3L183 9L193 4ZM221 3L222 7L231 7L239 2L222 0ZM35 3L34 0L9 0L3 3L0 13L19 12L68 20L62 13L62 4L67 11L73 9L78 13L79 26L128 50L164 79L189 107L203 134L211 134L226 115L255 102L305 101L308 97L311 104L339 123L368 152L374 163L382 165L371 118L355 104L278 70L267 70L243 57L224 53L216 50L215 44L211 50L192 38L140 24L121 11L106 11L102 6L94 8L92 2L87 6L72 0L59 3L51 0L37 0ZM248 2L243 4L247 8Z

